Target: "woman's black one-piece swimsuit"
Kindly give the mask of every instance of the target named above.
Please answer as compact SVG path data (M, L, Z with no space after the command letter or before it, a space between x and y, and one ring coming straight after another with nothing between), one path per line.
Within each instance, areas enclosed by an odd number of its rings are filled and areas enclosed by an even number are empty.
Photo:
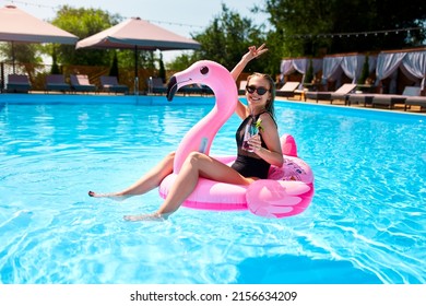
M268 113L268 111L263 111L263 113ZM255 120L258 120L259 116L262 115L263 113L256 115ZM271 164L260 158L256 153L242 150L244 132L246 130L247 123L250 121L251 121L251 116L248 116L246 119L244 119L244 121L241 122L241 125L237 130L236 140L238 146L238 155L237 155L237 160L232 165L232 168L236 169L240 175L245 177L268 178L268 173ZM268 149L267 144L262 139L262 134L259 133L259 136L262 142L262 148Z

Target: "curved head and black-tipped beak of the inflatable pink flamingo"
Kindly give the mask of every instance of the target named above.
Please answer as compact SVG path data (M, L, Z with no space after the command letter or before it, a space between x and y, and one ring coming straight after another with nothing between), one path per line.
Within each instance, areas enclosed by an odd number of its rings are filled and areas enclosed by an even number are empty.
M171 101L180 87L191 84L208 85L216 96L226 89L228 95L235 93L235 101L238 97L237 86L229 71L215 61L200 60L174 74L167 84L167 99Z

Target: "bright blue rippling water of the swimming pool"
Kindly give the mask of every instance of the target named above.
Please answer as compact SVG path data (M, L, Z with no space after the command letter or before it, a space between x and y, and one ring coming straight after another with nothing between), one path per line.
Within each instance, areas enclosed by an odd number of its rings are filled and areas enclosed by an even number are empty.
M157 190L122 202L87 190L132 184L212 99L31 99L0 103L0 283L426 283L426 116L277 102L281 133L316 176L304 213L182 208L128 223L161 204ZM235 153L238 125L212 154Z

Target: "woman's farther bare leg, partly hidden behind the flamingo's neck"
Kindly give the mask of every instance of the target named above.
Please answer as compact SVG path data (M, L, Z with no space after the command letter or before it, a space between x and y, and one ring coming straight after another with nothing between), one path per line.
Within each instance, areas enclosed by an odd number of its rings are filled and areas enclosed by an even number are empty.
M143 195L159 186L163 178L173 172L173 163L175 160L175 153L169 153L162 162L159 162L154 168L142 176L138 181L131 185L129 188L111 193L97 193L88 191L90 197L94 198L111 198L116 200L125 200L127 198Z

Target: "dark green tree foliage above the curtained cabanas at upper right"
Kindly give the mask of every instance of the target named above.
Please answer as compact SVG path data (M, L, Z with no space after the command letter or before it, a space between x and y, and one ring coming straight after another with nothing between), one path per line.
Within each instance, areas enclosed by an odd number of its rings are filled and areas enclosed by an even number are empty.
M281 44L283 57L400 49L425 39L424 0L265 0L264 12L273 27L269 38ZM386 30L410 27L423 30L386 35Z

